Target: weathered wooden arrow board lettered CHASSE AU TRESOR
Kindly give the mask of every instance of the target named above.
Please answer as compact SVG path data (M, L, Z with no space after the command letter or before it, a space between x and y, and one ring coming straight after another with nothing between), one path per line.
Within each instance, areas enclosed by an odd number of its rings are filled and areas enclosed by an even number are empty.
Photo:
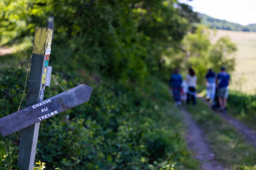
M28 126L44 121L56 114L89 101L92 87L79 85L75 88L36 103L25 109L0 119L0 131L3 136L12 134Z

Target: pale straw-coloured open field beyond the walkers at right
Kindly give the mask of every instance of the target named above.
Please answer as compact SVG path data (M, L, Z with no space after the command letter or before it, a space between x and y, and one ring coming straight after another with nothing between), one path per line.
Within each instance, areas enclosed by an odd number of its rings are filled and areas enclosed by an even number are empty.
M221 36L229 36L238 51L233 55L236 59L235 71L231 76L230 89L249 94L256 93L256 32L217 30L211 31L211 39L216 42Z

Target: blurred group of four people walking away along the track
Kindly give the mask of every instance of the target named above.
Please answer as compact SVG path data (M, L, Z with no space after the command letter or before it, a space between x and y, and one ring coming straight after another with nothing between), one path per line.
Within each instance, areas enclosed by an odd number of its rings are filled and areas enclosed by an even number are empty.
M205 75L206 80L206 99L213 103L218 104L221 111L226 110L227 97L229 90L230 76L226 72L225 67L221 67L221 72L216 75L209 69ZM183 80L180 71L174 70L174 73L170 76L169 88L172 89L173 98L175 105L181 105L182 102L196 105L196 86L197 76L192 68L188 69L188 74Z

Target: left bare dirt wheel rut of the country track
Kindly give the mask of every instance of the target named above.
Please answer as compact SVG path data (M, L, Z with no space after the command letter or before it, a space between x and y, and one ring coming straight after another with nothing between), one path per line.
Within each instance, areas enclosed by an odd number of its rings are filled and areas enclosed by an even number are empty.
M181 107L180 110L184 123L187 126L185 136L186 143L196 159L200 161L200 169L226 169L216 161L213 152L210 150L209 144L204 139L202 130L198 127L196 122L194 122L192 116L184 109L184 107Z

